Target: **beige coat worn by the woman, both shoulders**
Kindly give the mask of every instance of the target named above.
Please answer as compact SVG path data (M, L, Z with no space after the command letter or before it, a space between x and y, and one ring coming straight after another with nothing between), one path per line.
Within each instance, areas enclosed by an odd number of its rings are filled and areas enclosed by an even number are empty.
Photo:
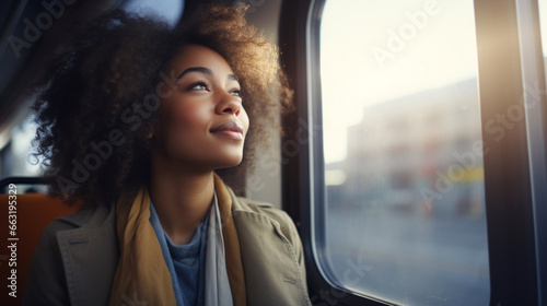
M247 305L311 306L302 243L292 220L270 204L231 196ZM114 207L58 217L46 228L23 305L107 305L119 258ZM126 305L141 305L131 298Z

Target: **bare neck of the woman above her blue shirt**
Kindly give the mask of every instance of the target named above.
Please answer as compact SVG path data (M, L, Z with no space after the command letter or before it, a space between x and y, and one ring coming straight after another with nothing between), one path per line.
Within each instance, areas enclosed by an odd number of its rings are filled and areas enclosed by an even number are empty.
M213 192L212 170L193 172L152 160L150 198L163 229L175 245L191 240L207 216Z

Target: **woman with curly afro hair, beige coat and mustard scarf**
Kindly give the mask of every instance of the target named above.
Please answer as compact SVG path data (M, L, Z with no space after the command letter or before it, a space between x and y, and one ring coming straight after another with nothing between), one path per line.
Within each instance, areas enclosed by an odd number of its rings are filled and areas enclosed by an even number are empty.
M81 211L43 234L24 304L311 305L290 217L223 183L241 184L291 98L244 11L175 31L110 12L54 61L38 154L51 193Z

